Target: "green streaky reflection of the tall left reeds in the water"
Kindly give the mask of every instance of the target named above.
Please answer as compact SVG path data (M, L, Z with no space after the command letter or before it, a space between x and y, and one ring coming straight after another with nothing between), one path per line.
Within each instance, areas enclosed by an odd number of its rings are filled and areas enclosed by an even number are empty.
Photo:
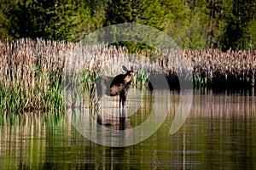
M50 129L65 123L61 114L24 113L1 114L0 157L5 169L41 169L47 157L47 138ZM70 131L71 126L66 126ZM56 142L56 141L55 141Z

